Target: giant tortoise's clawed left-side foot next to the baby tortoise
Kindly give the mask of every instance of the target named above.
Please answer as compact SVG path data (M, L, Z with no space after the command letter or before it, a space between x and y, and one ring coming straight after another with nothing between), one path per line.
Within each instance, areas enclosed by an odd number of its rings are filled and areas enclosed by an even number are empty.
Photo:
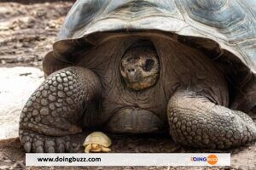
M28 130L20 130L20 141L26 153L79 152L81 145L71 143L69 136L45 136Z

